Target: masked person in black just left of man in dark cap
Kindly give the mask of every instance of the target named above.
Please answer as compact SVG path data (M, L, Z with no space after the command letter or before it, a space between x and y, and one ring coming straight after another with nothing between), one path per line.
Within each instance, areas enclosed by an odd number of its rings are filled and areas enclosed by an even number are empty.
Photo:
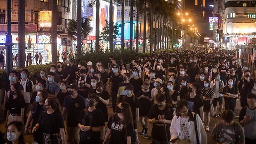
M68 82L67 81L61 81L60 82L60 92L57 94L58 102L60 103L60 106L62 107L63 102L65 98L70 95L67 90Z

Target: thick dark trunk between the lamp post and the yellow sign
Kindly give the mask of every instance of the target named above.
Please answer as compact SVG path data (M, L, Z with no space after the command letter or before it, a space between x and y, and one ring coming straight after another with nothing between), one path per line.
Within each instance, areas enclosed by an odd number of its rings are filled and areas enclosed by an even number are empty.
M18 36L19 36L19 68L24 68L25 66L25 1L19 0L19 13L18 13ZM11 16L10 16L11 18ZM10 53L12 54L12 53ZM9 55L10 57L11 55ZM9 75L9 74L7 74Z

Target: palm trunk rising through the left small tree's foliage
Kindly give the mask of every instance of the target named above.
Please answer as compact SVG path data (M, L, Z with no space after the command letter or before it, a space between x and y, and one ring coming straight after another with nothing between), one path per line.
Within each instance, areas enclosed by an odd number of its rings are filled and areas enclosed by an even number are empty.
M82 4L81 1L77 1L77 58L81 57L82 48Z

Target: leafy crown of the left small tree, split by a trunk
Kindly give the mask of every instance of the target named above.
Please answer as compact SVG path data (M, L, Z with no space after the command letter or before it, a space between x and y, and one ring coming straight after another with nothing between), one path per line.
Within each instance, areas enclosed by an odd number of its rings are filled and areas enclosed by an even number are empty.
M87 18L87 17L82 18L82 39L85 39L89 35L89 33L92 31L90 21L91 21L90 18ZM76 37L76 34L77 34L76 28L77 28L77 21L74 19L69 20L68 28L67 28L68 35L73 38Z

